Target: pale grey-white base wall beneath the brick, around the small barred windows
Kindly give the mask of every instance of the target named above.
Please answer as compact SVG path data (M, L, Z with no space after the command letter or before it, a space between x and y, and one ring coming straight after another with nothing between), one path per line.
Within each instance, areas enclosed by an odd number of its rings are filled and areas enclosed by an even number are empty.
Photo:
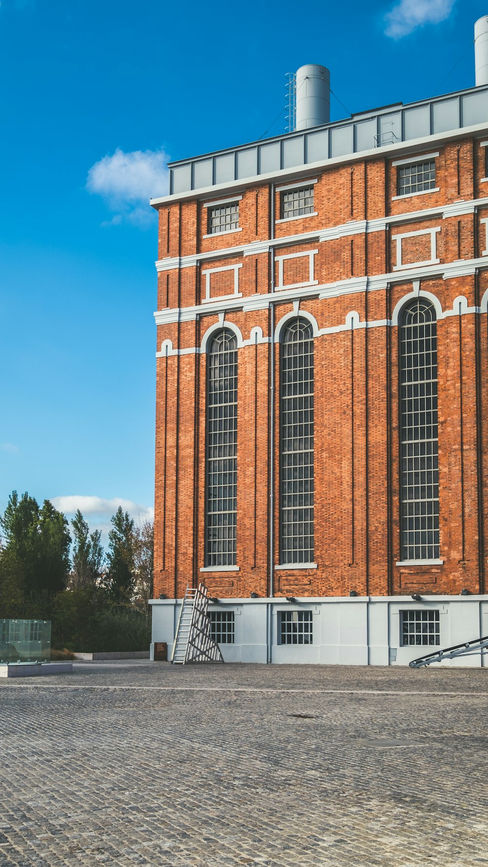
M181 599L153 599L153 643L175 640ZM400 611L439 610L437 646L400 646ZM209 610L234 611L234 644L221 644L226 662L319 663L324 665L408 665L436 649L488 636L488 596L360 596L301 597L294 603L274 599L220 599ZM280 611L313 612L312 644L280 644ZM480 655L435 665L483 666ZM488 666L488 661L486 662Z

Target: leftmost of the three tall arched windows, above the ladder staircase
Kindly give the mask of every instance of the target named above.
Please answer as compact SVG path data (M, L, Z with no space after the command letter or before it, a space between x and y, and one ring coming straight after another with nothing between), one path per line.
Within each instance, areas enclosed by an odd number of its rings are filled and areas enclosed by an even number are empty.
M205 565L234 566L237 530L237 341L222 329L207 356Z

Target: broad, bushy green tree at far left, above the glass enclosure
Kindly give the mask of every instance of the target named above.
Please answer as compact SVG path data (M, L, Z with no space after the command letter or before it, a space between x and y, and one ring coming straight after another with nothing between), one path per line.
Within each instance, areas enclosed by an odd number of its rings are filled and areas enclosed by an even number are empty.
M0 519L4 537L2 557L16 559L25 594L30 598L53 596L63 590L69 575L68 521L49 499L39 508L36 499L16 491ZM13 561L11 561L13 562Z

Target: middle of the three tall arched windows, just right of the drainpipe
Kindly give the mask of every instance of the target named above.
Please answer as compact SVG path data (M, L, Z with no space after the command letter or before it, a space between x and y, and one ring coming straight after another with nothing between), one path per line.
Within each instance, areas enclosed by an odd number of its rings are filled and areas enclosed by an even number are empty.
M313 563L313 331L301 318L281 342L280 563Z

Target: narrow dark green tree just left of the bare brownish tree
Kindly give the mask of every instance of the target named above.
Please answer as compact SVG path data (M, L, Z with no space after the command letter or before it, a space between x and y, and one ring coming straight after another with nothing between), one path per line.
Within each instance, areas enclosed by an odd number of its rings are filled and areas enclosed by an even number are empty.
M112 530L109 532L109 571L105 584L112 601L117 605L129 605L135 590L135 530L129 512L122 511L119 505L115 515L110 518Z

